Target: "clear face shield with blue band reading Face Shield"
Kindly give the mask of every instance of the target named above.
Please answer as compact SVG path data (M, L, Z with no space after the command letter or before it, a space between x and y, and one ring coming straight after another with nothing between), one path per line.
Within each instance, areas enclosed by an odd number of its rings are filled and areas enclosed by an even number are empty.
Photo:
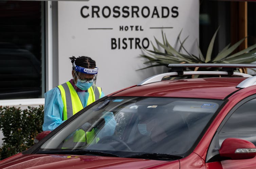
M98 68L84 68L77 66L75 62L73 63L73 67L75 69L75 76L77 78L76 86L81 90L87 90L92 87L94 91L96 87Z

